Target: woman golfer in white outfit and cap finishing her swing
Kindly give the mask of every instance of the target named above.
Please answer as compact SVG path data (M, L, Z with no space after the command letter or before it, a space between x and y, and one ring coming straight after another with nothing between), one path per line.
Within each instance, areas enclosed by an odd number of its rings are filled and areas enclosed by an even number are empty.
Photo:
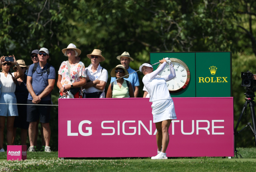
M176 74L172 62L168 60L170 75L159 76L158 74L164 69L166 60L159 60L161 66L153 72L153 67L149 63L144 63L140 66L140 72L145 76L142 82L148 94L150 94L150 102L152 102L153 122L156 123L156 142L158 147L158 155L151 159L168 159L166 149L169 143L169 127L173 119L176 118L174 103L170 96L166 81L175 78Z

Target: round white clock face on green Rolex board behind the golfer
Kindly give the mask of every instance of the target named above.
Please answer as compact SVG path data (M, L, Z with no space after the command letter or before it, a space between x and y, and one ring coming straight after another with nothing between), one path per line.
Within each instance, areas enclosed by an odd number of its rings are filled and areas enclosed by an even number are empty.
M172 65L174 66L174 70L176 73L176 77L173 78L170 81L167 81L167 87L168 90L171 93L176 93L184 90L186 86L188 86L189 80L190 80L190 71L188 69L188 66L182 61L177 58L170 58L172 61ZM159 64L160 66L161 64ZM158 67L159 67L158 66ZM170 68L166 64L164 67L164 70L160 72L159 75L169 75L170 74Z

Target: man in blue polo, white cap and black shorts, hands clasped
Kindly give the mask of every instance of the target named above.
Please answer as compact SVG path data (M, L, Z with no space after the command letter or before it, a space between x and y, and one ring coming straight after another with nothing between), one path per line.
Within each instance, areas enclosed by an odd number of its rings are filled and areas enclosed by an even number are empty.
M38 53L38 63L34 63L28 70L27 88L28 101L27 104L52 104L51 91L55 82L55 69L47 63L49 51L41 48ZM35 66L36 65L36 66ZM50 110L51 106L27 106L27 122L29 122L28 135L30 148L28 152L35 152L34 140L36 134L36 121L40 119L44 130L44 140L46 143L45 152L50 150Z

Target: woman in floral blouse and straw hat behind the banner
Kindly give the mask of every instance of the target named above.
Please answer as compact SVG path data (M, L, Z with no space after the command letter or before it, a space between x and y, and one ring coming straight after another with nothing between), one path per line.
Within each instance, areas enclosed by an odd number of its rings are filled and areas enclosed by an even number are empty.
M67 91L74 95L74 98L82 98L82 86L86 84L84 63L78 62L76 56L81 54L81 50L74 44L69 44L62 50L68 60L62 62L58 71L57 86L60 89L60 96L66 95Z

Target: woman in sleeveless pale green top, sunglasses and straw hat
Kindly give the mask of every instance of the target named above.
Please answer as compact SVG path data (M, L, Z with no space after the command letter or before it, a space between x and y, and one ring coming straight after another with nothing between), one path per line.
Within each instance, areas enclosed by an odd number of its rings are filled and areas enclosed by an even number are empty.
M116 80L117 84L115 85L114 82L112 82L108 86L108 92L106 98L128 98L129 96L131 98L134 98L134 92L132 85L129 81L124 80L124 78L128 78L128 71L124 68L123 65L119 64L114 69L111 70L110 76L120 78ZM126 76L128 75L128 76ZM125 76L124 78L121 78Z

